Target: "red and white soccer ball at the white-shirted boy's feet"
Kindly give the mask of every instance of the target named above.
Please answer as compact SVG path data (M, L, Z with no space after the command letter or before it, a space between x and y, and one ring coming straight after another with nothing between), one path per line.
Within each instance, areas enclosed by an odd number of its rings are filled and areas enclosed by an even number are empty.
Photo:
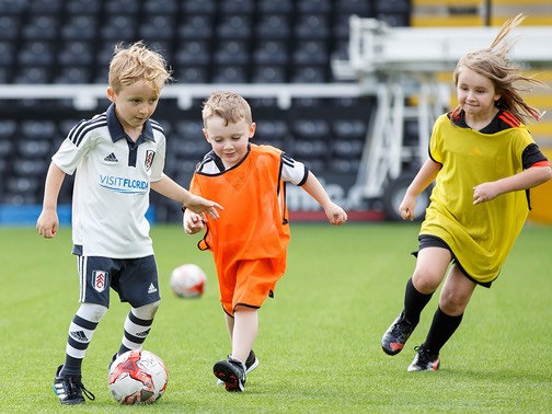
M120 404L154 403L165 392L168 381L163 361L149 350L128 350L110 367L110 391Z

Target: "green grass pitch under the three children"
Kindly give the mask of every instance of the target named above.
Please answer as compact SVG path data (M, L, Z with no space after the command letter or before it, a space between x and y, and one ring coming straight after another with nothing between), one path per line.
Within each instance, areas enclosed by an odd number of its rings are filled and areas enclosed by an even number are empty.
M152 238L162 302L145 348L165 361L166 393L151 406L119 406L107 364L126 303L112 306L89 347L83 382L94 402L60 406L51 391L77 310L70 229L54 240L1 228L0 413L548 413L552 412L552 228L528 225L492 289L475 289L437 372L406 372L437 306L434 295L404 350L380 338L401 310L415 260L416 223L292 223L288 271L260 313L261 361L245 392L216 386L212 364L230 352L211 255L177 226ZM172 295L183 263L207 275L200 299Z

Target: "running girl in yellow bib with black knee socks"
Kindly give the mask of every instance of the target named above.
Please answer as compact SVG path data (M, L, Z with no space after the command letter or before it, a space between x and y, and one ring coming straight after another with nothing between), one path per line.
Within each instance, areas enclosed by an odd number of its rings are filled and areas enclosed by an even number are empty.
M529 188L552 177L549 161L524 125L541 114L514 85L540 82L506 59L510 45L504 37L524 19L509 20L490 48L458 62L453 81L459 105L437 118L429 159L399 207L403 219L412 220L417 195L435 182L404 309L381 340L383 352L399 354L445 279L429 332L415 347L409 371L438 369L439 352L460 325L475 287L491 287L521 231Z

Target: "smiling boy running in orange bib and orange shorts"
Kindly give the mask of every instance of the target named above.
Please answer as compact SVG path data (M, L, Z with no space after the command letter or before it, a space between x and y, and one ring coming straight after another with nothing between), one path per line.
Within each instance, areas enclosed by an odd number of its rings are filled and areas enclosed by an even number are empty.
M286 271L289 220L286 183L302 186L341 226L347 215L301 162L271 146L250 142L255 134L251 107L240 95L217 92L203 108L204 135L212 146L196 168L191 192L216 195L225 217L184 212L188 234L205 231L199 249L210 250L217 267L220 301L232 343L227 360L214 366L228 391L243 391L245 375L258 365L252 350L258 331L258 309L273 296Z

